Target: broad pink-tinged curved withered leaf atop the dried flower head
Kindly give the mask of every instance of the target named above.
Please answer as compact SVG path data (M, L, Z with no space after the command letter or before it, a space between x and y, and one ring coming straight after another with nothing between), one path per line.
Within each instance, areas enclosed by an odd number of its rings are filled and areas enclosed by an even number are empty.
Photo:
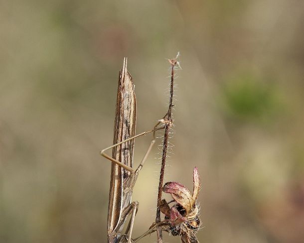
M165 183L162 191L170 193L175 202L179 203L187 213L195 203L189 190L178 182L170 181Z

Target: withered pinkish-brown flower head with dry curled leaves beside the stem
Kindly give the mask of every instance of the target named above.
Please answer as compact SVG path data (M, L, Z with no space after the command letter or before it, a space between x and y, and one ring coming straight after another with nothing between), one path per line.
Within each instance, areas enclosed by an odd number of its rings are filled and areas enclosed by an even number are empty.
M165 200L161 201L160 211L168 220L169 231L173 236L179 235L183 243L198 243L195 236L200 227L198 217L197 197L200 190L199 173L195 167L193 170L193 193L178 182L167 182L162 191L170 193L175 204L170 208ZM169 203L171 203L169 202Z

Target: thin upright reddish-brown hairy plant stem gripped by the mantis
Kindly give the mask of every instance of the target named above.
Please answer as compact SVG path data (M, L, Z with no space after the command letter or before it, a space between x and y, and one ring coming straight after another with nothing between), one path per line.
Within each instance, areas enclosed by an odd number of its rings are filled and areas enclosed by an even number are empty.
M155 223L160 222L160 202L161 202L161 192L162 192L162 185L163 185L163 176L164 176L164 167L166 162L166 154L168 149L168 138L169 138L169 129L171 126L171 113L172 113L172 106L173 106L173 82L174 82L174 67L177 64L175 59L169 60L171 64L171 81L170 81L170 100L169 100L169 107L168 112L164 116L164 120L166 120L165 128L164 128L164 137L163 137L163 145L162 145L162 158L161 158L161 167L160 167L160 175L159 175L159 184L158 184L158 194L157 194L157 210L156 210L156 218ZM162 243L162 229L160 226L156 226L157 232L157 242Z

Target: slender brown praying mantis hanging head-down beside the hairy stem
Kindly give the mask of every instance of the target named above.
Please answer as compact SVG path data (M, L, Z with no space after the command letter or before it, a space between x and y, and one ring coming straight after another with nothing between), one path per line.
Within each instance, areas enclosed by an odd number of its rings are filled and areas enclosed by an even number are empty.
M135 215L139 203L131 202L132 191L143 164L155 142L155 131L165 127L165 120L159 120L150 131L135 135L136 96L131 74L127 70L127 58L119 73L116 116L113 145L103 149L100 154L112 161L108 209L108 243L131 243ZM134 139L152 132L152 141L137 169L133 168ZM105 153L112 148L112 157ZM129 225L123 234L127 218Z

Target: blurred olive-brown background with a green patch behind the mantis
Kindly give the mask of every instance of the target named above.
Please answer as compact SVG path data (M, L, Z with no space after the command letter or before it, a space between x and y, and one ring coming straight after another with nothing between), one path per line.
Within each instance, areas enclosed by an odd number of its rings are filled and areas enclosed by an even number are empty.
M1 0L0 242L106 242L99 151L123 59L142 132L167 111L165 58L179 51L165 181L191 191L198 167L199 241L303 243L303 29L302 0ZM155 220L158 152L134 189L135 237Z

